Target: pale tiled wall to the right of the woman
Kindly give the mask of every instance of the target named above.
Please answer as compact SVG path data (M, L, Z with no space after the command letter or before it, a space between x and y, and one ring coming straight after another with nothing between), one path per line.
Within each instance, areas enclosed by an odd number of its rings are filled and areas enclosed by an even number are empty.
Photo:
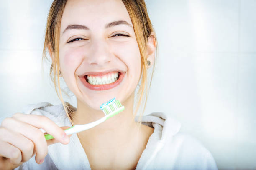
M180 120L219 169L256 169L256 1L161 2L147 0L160 47L148 102L161 105L146 112Z

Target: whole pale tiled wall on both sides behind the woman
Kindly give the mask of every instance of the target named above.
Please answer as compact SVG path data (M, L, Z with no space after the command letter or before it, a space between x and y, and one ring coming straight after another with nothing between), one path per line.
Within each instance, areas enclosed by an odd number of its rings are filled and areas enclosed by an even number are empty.
M28 103L59 104L41 75L52 0L0 5L0 117ZM146 0L159 56L146 114L166 112L219 169L256 169L256 0ZM75 97L66 98L76 107Z

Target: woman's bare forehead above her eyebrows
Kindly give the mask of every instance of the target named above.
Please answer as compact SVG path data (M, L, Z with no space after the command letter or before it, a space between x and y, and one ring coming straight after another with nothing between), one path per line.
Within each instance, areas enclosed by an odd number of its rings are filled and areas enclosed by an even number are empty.
M125 20L132 25L122 0L68 0L61 18L61 30L69 24L97 29L116 20Z

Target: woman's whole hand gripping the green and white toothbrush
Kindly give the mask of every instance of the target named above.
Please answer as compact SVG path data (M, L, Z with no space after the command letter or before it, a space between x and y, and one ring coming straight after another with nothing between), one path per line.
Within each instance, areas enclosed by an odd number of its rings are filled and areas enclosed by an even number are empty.
M46 140L42 128L54 139ZM36 163L41 164L48 153L47 146L54 143L68 144L64 130L46 116L16 113L5 118L0 126L0 170L14 169L36 154Z

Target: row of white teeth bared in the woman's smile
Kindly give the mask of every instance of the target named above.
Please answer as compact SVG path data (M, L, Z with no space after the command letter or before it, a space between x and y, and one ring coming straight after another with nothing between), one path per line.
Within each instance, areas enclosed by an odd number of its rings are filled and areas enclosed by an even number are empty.
M92 85L102 85L102 84L110 84L112 82L115 82L117 80L117 77L118 77L118 72L115 72L115 73L100 76L100 77L88 75L87 79L88 79L88 82Z

